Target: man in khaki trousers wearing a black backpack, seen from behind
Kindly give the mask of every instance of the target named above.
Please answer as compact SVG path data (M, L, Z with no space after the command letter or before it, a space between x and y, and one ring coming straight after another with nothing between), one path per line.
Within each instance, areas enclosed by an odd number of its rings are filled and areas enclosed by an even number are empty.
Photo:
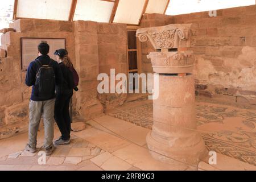
M36 152L36 137L38 133L40 119L44 118L44 149L46 155L51 155L54 146L52 143L54 136L54 106L55 88L62 85L63 76L59 64L49 56L49 45L40 43L38 45L38 55L30 63L26 75L26 85L33 86L30 98L30 122L28 127L28 144L26 151ZM56 90L61 92L61 90Z

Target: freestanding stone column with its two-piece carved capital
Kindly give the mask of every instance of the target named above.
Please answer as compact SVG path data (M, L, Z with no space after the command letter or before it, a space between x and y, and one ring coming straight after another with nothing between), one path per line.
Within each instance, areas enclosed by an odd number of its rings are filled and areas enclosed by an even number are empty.
M154 72L159 73L159 97L153 101L154 125L147 135L147 146L155 151L151 152L154 158L164 162L176 159L197 164L207 154L196 131L195 58L191 51L175 49L190 47L192 26L170 24L137 31L141 42L150 40L158 51L147 56Z

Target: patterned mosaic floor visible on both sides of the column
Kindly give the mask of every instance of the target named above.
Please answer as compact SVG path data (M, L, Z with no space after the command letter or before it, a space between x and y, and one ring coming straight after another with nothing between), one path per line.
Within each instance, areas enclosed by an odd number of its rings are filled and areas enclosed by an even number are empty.
M151 101L136 101L114 109L108 115L135 125L152 128ZM256 166L256 110L208 102L196 102L197 130L209 151Z

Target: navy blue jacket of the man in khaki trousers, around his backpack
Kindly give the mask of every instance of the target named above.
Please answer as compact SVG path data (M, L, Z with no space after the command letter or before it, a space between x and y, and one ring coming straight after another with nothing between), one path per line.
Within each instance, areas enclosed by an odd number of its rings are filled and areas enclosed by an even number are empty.
M43 64L49 64L50 57L48 55L42 55L42 56L39 56L38 58L36 58L36 60L39 60L42 65ZM35 62L36 60L32 61L30 63L30 65L28 66L27 75L26 75L26 85L27 86L33 86L30 100L32 100L32 101L46 101L46 100L42 100L38 96L36 96L36 92L35 92L36 72L39 69L39 65L36 64L36 62ZM63 83L63 76L62 76L62 73L61 73L60 66L56 61L52 61L51 65L52 65L52 67L54 69L54 72L55 72L56 86L61 87L61 85ZM47 100L52 100L55 97L56 97L55 92L53 92L52 96L49 96L49 98L47 98Z

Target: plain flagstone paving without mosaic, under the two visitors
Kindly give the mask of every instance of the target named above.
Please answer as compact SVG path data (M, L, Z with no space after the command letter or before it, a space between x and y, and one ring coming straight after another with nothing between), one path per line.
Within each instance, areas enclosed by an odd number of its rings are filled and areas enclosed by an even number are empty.
M112 131L114 133L112 133ZM146 148L148 129L120 119L103 116L88 122L85 130L72 132L71 144L57 146L46 165L40 165L43 131L38 133L38 152L24 152L27 134L0 140L0 171L141 171L141 170L196 170L179 162L162 163L153 159ZM138 135L134 135L138 133ZM55 138L60 135L55 129ZM126 139L127 138L127 139Z

